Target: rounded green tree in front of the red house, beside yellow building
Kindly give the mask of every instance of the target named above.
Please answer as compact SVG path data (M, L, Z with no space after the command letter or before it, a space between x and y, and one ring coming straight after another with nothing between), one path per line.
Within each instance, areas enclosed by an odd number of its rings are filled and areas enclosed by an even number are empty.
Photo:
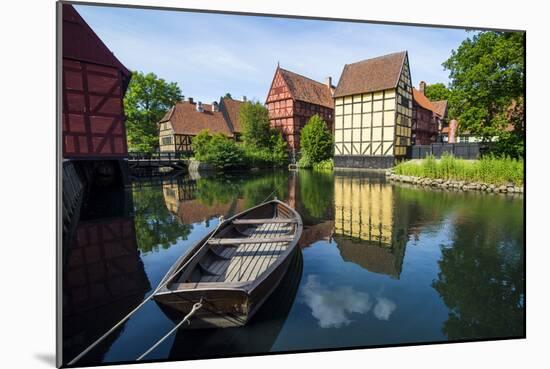
M317 114L309 118L300 134L302 156L311 164L319 163L332 157L332 134Z

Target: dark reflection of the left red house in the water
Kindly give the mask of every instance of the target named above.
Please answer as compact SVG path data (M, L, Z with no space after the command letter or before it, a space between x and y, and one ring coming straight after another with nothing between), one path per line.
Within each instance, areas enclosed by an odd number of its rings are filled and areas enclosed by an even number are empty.
M94 208L83 209L68 241L63 265L65 362L111 328L151 289L137 248L131 192L120 192L124 193L94 193ZM113 204L113 196L124 201L110 208L101 205ZM98 210L102 208L103 214ZM101 362L122 330L109 336L81 363Z

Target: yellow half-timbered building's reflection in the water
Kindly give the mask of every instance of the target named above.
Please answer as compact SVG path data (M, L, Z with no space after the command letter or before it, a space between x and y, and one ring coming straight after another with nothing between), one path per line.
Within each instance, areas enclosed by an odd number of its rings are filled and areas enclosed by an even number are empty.
M334 239L345 261L399 278L408 216L397 196L383 175L335 174Z

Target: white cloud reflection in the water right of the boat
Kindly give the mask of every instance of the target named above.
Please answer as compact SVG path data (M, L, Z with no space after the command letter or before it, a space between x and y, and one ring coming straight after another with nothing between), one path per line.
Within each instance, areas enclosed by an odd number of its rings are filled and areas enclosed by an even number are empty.
M321 328L340 328L349 325L349 314L366 314L373 306L368 293L355 291L350 286L323 286L316 275L307 277L302 297ZM379 320L389 320L395 309L396 304L393 301L377 297L373 314Z

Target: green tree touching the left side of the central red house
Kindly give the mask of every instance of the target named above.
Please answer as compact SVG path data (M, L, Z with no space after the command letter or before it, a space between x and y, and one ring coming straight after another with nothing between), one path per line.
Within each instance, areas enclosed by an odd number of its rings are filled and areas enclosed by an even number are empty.
M269 147L272 132L265 106L259 102L245 102L240 108L239 118L243 129L243 142L246 146L253 148Z

